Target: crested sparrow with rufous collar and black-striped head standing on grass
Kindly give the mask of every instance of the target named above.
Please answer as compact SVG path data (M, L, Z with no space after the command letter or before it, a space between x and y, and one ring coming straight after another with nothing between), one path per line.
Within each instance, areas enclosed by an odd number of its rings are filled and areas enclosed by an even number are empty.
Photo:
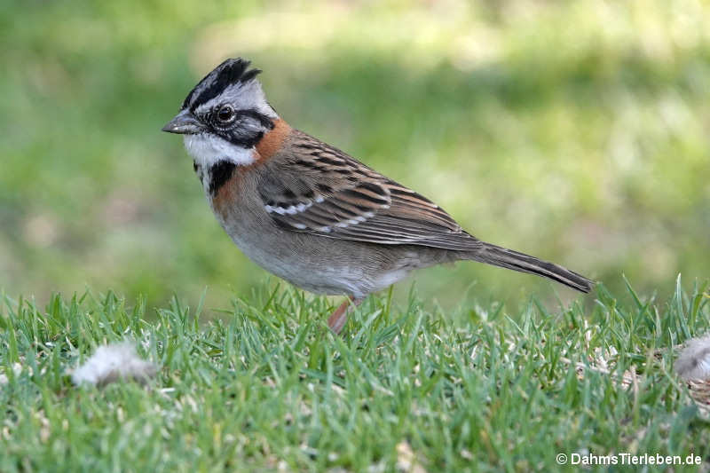
M466 232L444 209L335 146L291 127L246 59L226 59L190 91L163 131L185 149L219 224L267 272L347 298L339 334L363 299L409 272L460 260L493 264L588 293L592 280Z

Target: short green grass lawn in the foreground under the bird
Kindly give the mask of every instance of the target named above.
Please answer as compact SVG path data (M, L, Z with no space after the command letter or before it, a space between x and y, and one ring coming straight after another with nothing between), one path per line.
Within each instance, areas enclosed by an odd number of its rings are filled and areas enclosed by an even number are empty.
M706 288L679 278L657 301L600 286L587 308L532 299L517 313L390 293L343 338L324 325L335 301L290 288L219 317L112 292L44 310L5 296L0 470L550 471L556 453L587 451L696 453L706 468L706 414L672 369L710 328ZM156 379L71 385L67 368L124 337Z

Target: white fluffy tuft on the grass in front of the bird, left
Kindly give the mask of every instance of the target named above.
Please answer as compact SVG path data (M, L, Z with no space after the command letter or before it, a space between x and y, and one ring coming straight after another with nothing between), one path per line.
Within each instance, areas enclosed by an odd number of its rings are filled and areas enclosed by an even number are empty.
M102 345L72 374L75 384L104 386L109 382L133 380L147 382L158 372L151 361L140 359L133 343Z

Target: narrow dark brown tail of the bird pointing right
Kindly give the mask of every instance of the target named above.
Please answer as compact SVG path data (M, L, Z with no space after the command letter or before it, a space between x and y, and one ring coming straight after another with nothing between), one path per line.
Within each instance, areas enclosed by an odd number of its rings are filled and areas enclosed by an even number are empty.
M594 286L592 280L588 280L581 274L572 272L557 264L542 261L535 256L525 255L508 248L501 248L490 243L483 243L483 247L470 253L470 259L481 263L493 264L519 272L529 272L537 274L549 280L555 280L565 286L577 289L580 292L588 293Z

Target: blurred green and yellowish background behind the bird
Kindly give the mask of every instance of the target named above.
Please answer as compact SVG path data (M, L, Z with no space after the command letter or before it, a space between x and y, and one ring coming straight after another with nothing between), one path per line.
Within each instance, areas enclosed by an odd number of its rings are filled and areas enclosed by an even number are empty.
M182 140L160 131L235 56L264 70L292 125L483 240L611 288L622 272L661 293L678 272L706 280L709 20L685 0L5 0L0 288L46 300L88 285L155 305L209 287L224 306L262 283ZM575 296L480 264L414 279L445 305Z

